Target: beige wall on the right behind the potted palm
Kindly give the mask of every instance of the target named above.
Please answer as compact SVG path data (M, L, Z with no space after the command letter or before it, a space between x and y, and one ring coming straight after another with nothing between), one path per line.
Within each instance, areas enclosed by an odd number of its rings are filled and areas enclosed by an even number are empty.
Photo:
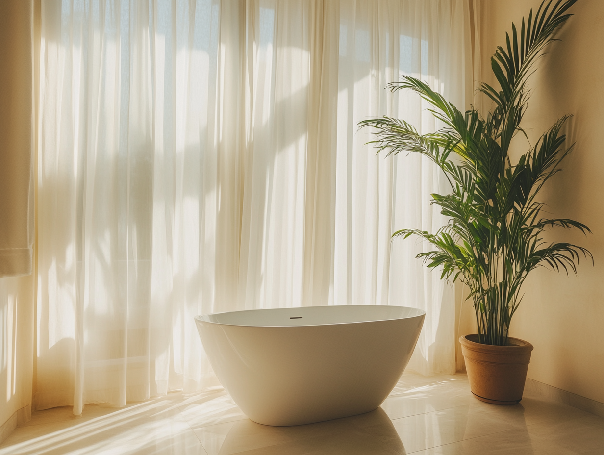
M511 22L519 25L522 15L538 5L536 0L483 0L486 82L493 82L490 56L496 45L505 44ZM535 143L557 118L574 115L567 134L576 148L542 200L551 216L584 222L593 235L557 229L547 239L588 248L595 266L583 260L577 276L568 277L534 271L511 332L535 346L528 377L604 402L604 1L579 0L570 12L574 16L559 35L562 41L550 46L530 80L533 92L524 128ZM526 146L525 138L516 138L518 150Z

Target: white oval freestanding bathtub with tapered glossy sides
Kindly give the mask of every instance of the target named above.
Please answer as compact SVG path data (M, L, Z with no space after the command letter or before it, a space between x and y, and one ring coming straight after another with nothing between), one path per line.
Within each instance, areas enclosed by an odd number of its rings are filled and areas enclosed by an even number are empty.
M404 306L346 305L195 321L214 372L243 413L284 426L377 408L405 369L424 316Z

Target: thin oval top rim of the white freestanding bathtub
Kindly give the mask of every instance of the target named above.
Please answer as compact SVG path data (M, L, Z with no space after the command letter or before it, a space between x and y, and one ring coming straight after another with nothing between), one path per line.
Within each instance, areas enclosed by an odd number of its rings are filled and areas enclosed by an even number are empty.
M416 314L406 315L404 317L394 317L394 318L382 318L382 319L370 319L370 320L362 320L362 321L344 321L344 322L333 322L333 323L323 323L323 324L233 324L227 322L220 321L211 321L208 320L209 317L217 316L221 314L234 314L234 313L246 313L246 312L263 312L263 311L288 311L292 309L303 309L303 308L334 308L334 307L347 307L347 308L368 308L368 307L377 307L384 306L388 308L405 308L410 309L416 312ZM295 328L295 327L321 327L321 326L341 326L347 324L363 324L363 323L371 323L371 322L383 322L383 321L397 321L404 319L411 319L416 317L425 317L426 311L419 308L414 308L413 306L402 306L402 305L318 305L318 306L289 306L286 308L256 308L256 309L244 309L237 311L218 311L214 313L207 313L202 315L197 315L194 317L195 321L208 323L208 324L216 324L222 326L232 326L232 327L262 327L262 328Z

